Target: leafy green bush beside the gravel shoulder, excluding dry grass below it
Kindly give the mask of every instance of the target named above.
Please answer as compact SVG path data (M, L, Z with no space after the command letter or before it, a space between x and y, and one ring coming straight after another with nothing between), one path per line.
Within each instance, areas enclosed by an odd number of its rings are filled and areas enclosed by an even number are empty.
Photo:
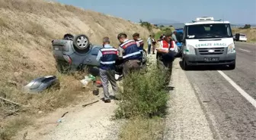
M116 110L117 118L162 117L168 101L165 73L153 64L148 73L130 73L123 80L122 101Z

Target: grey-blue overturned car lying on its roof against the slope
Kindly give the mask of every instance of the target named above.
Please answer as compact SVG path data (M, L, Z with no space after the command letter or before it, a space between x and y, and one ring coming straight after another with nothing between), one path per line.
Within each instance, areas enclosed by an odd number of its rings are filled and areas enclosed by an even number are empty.
M56 68L60 73L74 72L77 70L89 70L94 76L98 75L100 62L96 60L98 51L102 45L92 45L88 36L72 36L66 34L63 39L52 41L53 57L56 60ZM117 62L117 72L123 71L122 63ZM143 50L142 64L146 64L146 51Z

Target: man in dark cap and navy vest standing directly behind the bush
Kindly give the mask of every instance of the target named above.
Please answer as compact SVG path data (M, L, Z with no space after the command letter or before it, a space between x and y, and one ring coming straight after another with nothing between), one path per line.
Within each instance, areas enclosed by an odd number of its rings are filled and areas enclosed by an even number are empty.
M139 51L139 45L134 40L127 39L125 33L118 34L117 39L121 43L120 50L123 54L123 76L126 76L130 72L140 70L142 55Z

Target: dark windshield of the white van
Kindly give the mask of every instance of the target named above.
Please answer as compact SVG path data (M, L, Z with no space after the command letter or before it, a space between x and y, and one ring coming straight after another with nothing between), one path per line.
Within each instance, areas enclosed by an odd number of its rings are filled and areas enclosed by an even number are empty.
M232 37L229 23L197 24L187 26L186 39L214 39Z

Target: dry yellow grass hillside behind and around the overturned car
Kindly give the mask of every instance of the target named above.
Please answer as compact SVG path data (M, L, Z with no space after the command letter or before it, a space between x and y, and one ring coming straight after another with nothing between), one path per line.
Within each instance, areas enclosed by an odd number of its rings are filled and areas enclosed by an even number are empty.
M92 43L101 44L101 39L109 36L111 43L117 45L120 32L129 37L138 32L142 39L149 36L146 28L130 21L56 2L0 0L0 13L0 97L29 106L21 108L0 101L0 126L9 124L3 117L15 111L29 116L90 97L89 89L82 89L74 76L57 73L52 39L60 39L66 33L85 33ZM57 75L60 89L40 95L21 92L27 82L45 75Z

